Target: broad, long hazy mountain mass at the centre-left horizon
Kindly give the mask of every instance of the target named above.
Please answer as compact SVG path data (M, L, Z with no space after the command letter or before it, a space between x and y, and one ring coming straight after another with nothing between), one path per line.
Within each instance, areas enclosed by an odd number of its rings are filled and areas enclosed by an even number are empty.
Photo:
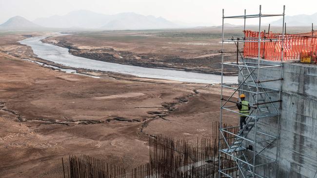
M135 13L116 15L99 14L87 10L70 12L64 16L37 18L33 21L44 27L51 28L102 28L106 30L137 30L181 27L164 18L143 16Z

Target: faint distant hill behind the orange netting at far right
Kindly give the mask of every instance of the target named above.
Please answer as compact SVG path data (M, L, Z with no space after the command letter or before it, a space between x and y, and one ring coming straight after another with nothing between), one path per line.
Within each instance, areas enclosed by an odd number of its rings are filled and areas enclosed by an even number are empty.
M285 16L285 22L287 26L311 26L312 23L317 24L317 13L313 15L296 15L296 16ZM271 22L272 25L282 26L283 19L278 19Z

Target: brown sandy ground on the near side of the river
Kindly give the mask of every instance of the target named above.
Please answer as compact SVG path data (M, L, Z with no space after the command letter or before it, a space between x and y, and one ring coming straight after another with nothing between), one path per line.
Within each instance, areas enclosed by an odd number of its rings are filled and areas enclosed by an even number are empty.
M15 42L23 36L4 38L1 178L59 178L61 158L73 154L129 169L148 161L151 134L186 140L212 137L211 124L219 119L218 85L66 74L13 57L32 51ZM225 122L237 124L238 117L226 114Z

